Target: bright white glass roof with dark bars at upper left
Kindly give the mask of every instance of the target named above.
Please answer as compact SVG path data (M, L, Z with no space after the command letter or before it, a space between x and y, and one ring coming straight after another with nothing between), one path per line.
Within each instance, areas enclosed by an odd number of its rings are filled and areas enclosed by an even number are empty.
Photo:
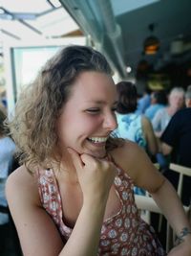
M1 36L21 42L60 38L78 25L58 0L1 0Z

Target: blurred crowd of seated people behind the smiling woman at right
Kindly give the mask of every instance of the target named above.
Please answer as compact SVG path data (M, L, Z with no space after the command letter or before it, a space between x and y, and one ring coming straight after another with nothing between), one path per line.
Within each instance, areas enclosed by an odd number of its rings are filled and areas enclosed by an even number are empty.
M171 173L170 163L191 167L191 85L186 90L173 87L166 91L146 89L138 97L137 85L131 81L117 83L117 137L132 140L147 151L159 171L175 187L178 176ZM189 205L191 179L183 181L183 204ZM144 194L138 188L138 194Z

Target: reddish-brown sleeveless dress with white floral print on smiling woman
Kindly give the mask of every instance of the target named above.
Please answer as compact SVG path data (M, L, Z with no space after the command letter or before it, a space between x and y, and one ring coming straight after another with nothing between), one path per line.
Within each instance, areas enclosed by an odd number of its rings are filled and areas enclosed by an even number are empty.
M153 227L140 219L132 179L118 167L117 171L114 183L121 207L115 216L103 221L97 255L166 255ZM67 241L73 229L63 221L61 197L52 169L38 171L38 189L43 207Z

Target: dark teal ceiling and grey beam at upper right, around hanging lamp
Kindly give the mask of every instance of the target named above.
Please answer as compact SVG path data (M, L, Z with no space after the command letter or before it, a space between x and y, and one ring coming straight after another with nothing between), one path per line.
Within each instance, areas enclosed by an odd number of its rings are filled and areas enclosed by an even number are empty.
M71 13L84 34L111 59L121 77L126 67L135 75L138 62L148 61L154 70L169 62L191 59L191 1L190 0L60 0ZM151 32L159 38L159 52L143 54L143 41ZM179 38L181 47L172 50Z

